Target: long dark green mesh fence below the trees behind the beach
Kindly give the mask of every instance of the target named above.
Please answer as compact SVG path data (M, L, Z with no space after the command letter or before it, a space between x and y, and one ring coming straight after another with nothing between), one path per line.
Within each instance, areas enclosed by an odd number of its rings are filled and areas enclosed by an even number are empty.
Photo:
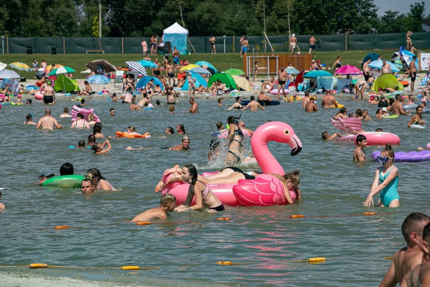
M297 35L298 46L301 51L309 49L310 35ZM339 34L339 35L315 35L317 39L316 51L338 50L372 50L372 49L399 49L406 46L406 33L394 34ZM217 53L238 53L240 51L240 36L216 37ZM275 52L288 51L288 36L268 36L270 44ZM417 49L430 47L430 33L414 33L413 45ZM2 41L2 51L6 54L140 54L142 38L65 38L65 37L6 37ZM149 38L146 38L149 43ZM250 51L254 48L258 52L271 52L264 36L248 36ZM191 53L210 53L208 37L189 37L188 49ZM149 44L148 44L149 45ZM172 43L172 46L175 45Z

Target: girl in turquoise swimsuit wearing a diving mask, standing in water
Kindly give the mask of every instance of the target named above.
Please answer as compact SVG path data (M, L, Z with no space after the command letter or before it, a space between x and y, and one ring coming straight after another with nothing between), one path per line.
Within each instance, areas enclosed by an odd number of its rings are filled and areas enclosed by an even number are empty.
M373 196L380 194L378 206L398 207L400 206L400 197L397 192L397 184L399 183L399 170L393 165L394 151L390 143L387 143L385 149L381 152L381 156L377 157L377 162L382 164L382 167L377 168L375 178L373 180L370 194L364 206L373 206Z

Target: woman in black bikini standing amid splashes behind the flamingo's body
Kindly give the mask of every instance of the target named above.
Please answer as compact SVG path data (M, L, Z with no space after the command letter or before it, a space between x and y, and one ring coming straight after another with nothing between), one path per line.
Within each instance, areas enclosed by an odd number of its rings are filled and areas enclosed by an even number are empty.
M240 118L240 117L239 117ZM237 161L240 161L240 157L243 151L243 132L239 128L239 118L235 116L230 116L227 119L229 123L230 130L227 136L228 152L225 159L227 165L231 165Z

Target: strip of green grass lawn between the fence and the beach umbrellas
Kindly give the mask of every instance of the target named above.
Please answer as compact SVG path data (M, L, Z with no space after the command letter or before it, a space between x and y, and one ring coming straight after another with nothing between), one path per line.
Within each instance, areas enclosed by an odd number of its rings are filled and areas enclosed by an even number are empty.
M336 52L318 52L316 53L315 59L321 60L321 63L325 63L328 66L332 66L336 61L338 56L342 57L342 64L350 64L357 67L361 66L361 62L365 55L368 53L375 52L381 53L384 55L384 58L387 60L391 60L391 56L393 55L394 50L384 50L384 51L336 51ZM272 53L260 53L261 55L271 55ZM279 54L279 53L278 53ZM248 54L249 55L249 54ZM211 63L218 71L225 71L230 68L242 69L242 58L240 58L239 53L219 53L217 55L211 54L191 54L181 56L181 59L185 57L188 62L195 63L197 61L207 61ZM155 58L158 58L158 61L161 62L163 60L162 55L151 56L151 60L153 61ZM172 59L172 56L169 56ZM84 71L85 64L97 59L104 59L115 66L123 66L126 67L125 61L138 61L142 60L143 57L140 54L58 54L58 55L50 55L50 54L0 54L0 62L10 64L13 62L24 62L31 67L33 59L37 59L40 62L42 59L45 59L48 65L56 63L64 66L71 67L76 70L74 78L84 78L86 74L80 74L79 72ZM7 67L6 69L11 69ZM14 69L12 69L14 70ZM17 71L18 72L18 71ZM25 72L21 71L20 74L27 79L34 78L34 72Z

